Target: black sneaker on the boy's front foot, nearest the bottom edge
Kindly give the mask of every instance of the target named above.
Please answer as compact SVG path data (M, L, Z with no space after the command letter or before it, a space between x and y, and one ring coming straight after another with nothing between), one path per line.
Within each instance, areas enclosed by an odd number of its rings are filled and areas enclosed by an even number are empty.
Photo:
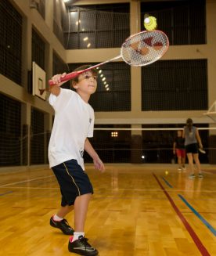
M88 242L88 238L79 236L78 240L68 243L68 251L74 252L75 254L94 256L99 254L99 252L93 248Z

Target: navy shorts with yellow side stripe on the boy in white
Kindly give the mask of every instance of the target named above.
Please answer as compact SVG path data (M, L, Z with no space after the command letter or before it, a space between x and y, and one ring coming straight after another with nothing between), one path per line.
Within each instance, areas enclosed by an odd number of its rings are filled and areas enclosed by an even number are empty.
M85 171L77 164L77 160L67 160L52 167L52 171L59 182L62 206L74 205L76 197L93 193L92 183Z

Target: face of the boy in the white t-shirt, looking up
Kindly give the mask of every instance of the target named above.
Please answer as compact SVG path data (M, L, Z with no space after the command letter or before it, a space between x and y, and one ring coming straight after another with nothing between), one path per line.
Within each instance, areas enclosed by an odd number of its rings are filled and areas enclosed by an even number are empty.
M88 70L78 76L78 82L74 84L74 88L77 92L92 95L97 88L97 77Z

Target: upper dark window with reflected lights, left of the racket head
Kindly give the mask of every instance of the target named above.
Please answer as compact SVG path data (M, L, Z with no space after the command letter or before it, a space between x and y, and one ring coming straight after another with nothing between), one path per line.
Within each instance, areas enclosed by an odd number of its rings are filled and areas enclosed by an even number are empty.
M67 49L120 47L130 35L129 4L82 5L70 8L70 26L64 17Z

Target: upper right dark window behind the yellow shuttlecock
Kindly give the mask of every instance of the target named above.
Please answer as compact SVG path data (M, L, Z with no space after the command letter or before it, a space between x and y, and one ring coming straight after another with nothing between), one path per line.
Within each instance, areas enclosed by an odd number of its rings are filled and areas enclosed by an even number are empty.
M157 17L158 29L164 31L171 45L206 44L205 0L142 2L141 27L145 13Z

